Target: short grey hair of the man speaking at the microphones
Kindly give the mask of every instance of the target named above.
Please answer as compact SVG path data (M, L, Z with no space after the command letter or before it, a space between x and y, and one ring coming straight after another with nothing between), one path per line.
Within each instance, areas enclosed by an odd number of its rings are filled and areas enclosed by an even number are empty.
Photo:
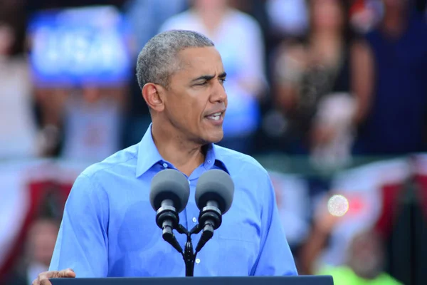
M142 48L137 61L137 80L142 89L147 83L168 88L169 76L176 71L176 58L185 48L214 46L209 38L195 31L172 30L159 33Z

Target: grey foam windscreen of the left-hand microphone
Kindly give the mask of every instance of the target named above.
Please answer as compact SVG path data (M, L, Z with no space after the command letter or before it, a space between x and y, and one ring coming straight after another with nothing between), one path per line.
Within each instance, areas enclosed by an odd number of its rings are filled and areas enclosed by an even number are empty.
M154 175L149 192L149 202L154 211L162 206L164 199L171 199L176 212L182 212L189 202L189 196L189 182L178 170L162 170Z

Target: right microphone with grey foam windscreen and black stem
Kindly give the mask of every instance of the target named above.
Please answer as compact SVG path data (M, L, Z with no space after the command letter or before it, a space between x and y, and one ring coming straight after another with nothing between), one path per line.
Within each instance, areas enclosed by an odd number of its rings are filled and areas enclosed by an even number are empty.
M209 170L199 177L196 185L196 205L200 209L199 225L203 229L196 252L214 236L222 223L222 215L231 207L234 183L223 170Z

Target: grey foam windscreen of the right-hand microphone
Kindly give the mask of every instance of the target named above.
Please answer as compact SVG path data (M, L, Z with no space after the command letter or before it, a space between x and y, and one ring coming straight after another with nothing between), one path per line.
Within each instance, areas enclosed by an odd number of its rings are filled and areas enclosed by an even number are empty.
M233 180L223 170L208 170L197 181L196 204L200 210L208 201L214 200L218 203L218 209L225 214L231 207L233 196Z

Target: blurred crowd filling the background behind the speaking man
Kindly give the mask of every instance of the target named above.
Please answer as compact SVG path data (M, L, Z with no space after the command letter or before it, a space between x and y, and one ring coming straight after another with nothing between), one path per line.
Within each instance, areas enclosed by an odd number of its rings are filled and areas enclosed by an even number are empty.
M1 0L0 284L48 268L75 177L141 140L136 58L170 29L221 53L219 145L273 155L300 274L425 284L425 0ZM275 167L280 157L316 174ZM334 194L343 217L327 211Z

